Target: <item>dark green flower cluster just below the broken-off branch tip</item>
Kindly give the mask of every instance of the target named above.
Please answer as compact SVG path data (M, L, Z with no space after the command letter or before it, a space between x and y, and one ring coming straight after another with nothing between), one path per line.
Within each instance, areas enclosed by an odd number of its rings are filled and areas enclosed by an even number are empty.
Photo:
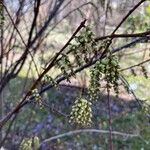
M94 33L90 27L85 26L80 35L75 37L73 44L70 44L69 50L74 56L74 65L81 66L90 61L93 52L98 51L97 43L94 39Z

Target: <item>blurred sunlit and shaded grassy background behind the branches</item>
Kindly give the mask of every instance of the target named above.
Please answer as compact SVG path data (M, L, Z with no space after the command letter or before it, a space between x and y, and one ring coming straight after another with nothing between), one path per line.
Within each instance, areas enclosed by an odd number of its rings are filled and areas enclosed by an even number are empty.
M61 3L62 2L62 3ZM16 27L21 33L24 41L28 40L32 20L34 18L34 1L32 0L3 0L9 10ZM22 96L28 91L31 83L38 78L38 72L42 72L45 64L48 63L55 53L63 47L69 37L73 34L80 22L87 18L87 24L92 28L95 37L109 35L119 24L125 14L138 3L138 0L42 0L39 9L37 24L34 29L32 40L38 35L40 29L46 24L46 29L34 43L31 40L30 53L34 57L37 68L28 55L23 66L15 77L7 79L7 84L1 90L0 118L5 116ZM55 9L60 4L58 10ZM21 11L19 13L19 8ZM18 33L14 30L12 21L4 10L3 42L5 50L1 58L1 80L3 74L16 63L16 60L24 53L24 44ZM19 16L19 17L18 17ZM51 18L50 18L51 16ZM150 29L150 2L143 3L132 13L125 23L119 28L118 33L139 33ZM13 34L10 34L12 33ZM11 37L12 36L12 37ZM122 46L136 40L137 38L116 38L113 40L111 49ZM31 44L30 43L30 44ZM141 66L128 69L149 59L149 40L142 40L132 46L125 47L116 53L119 58L120 73L128 81L136 98L149 103L150 94L150 64L144 63ZM2 56L2 53L1 53ZM70 56L72 57L72 56ZM126 69L127 68L127 69ZM55 78L60 74L58 68L53 67L48 75ZM68 122L71 106L75 99L81 95L87 95L89 86L89 68L71 78L71 83L63 81L57 88L51 88L42 94L42 99L48 106L39 108L32 103L27 104L19 113L5 143L4 149L17 150L24 138L38 136L40 142L68 131L84 129ZM2 81L1 81L2 85ZM102 88L99 93L99 100L93 106L92 125L88 129L108 130L107 93ZM119 96L111 93L112 128L128 134L140 135L137 137L124 137L113 135L114 150L149 150L150 149L150 124L144 111L138 107L138 103L131 92L127 92L123 86L119 88ZM49 107L50 106L50 107ZM58 113L56 113L58 112ZM1 131L1 140L7 134L10 123L8 122ZM108 134L100 133L77 133L52 140L41 145L45 150L108 150Z

